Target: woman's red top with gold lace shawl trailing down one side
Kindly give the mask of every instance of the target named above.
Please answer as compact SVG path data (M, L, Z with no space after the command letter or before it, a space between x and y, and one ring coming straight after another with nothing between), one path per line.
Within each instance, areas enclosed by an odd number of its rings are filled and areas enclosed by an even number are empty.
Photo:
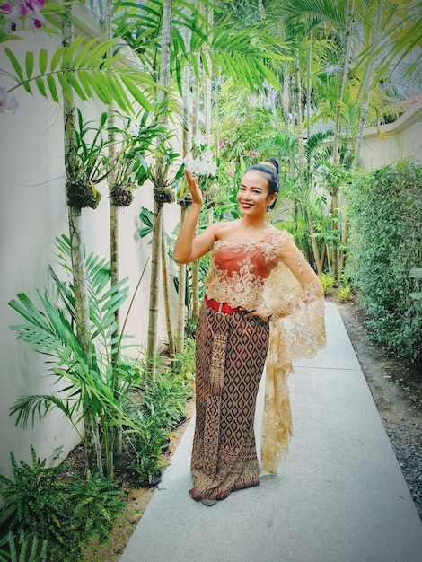
M281 260L286 233L262 240L216 241L206 279L208 298L271 316L262 420L261 470L277 474L293 424L287 377L293 362L325 346L321 286L307 282L309 265L297 251L295 265Z

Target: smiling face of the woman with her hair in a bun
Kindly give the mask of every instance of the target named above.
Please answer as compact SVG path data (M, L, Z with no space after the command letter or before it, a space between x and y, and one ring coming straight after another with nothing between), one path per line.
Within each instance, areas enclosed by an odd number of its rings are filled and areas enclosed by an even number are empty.
M277 193L268 193L267 177L259 170L249 170L242 177L236 196L242 215L265 215L267 207L277 198Z

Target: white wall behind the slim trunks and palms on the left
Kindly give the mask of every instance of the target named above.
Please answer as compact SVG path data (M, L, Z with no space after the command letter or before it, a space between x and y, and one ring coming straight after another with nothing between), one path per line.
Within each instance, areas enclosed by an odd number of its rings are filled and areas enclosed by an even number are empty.
M35 35L31 36L34 40ZM56 50L59 37L36 35L45 48ZM31 44L15 41L13 50L31 49ZM4 54L0 53L2 67ZM9 84L2 77L0 85ZM41 459L53 461L56 447L70 451L78 436L57 411L52 411L34 428L22 430L9 416L13 401L24 394L57 391L55 381L48 377L45 358L34 352L28 343L18 341L9 326L20 323L21 317L8 305L16 294L37 298L45 288L51 292L48 265L55 264L55 237L68 233L64 180L62 109L54 101L39 95L31 97L23 90L15 93L19 109L15 115L0 114L0 473L10 477L10 452L17 461L31 461L32 443ZM84 103L85 119L95 119L104 108ZM178 146L175 147L178 150ZM84 236L88 251L101 258L110 257L109 199L106 187L100 187L102 199L96 210L84 209ZM136 233L141 206L153 208L153 192L145 186L136 192L131 206L119 213L120 277L129 276L132 297L138 278L150 259L151 246ZM165 224L171 233L179 220L180 207L166 206ZM57 269L58 270L58 269ZM146 339L149 303L149 268L136 295L133 311L127 322L127 333L143 345ZM176 305L174 303L174 312ZM163 311L163 307L161 307ZM166 338L163 312L159 320L159 337Z

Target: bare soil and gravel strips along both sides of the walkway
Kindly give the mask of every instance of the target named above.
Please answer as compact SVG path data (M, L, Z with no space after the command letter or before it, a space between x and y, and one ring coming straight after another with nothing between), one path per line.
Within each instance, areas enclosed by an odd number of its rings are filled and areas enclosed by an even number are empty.
M397 357L387 356L381 346L372 342L368 331L365 329L365 313L354 301L340 303L335 296L329 296L327 301L338 306L341 318L346 326L348 336L355 349L356 356L365 374L365 379L372 392L374 403L378 408L382 423L386 427L391 438L391 444L400 461L400 443L402 439L406 443L420 443L420 430L422 427L422 373L421 367L409 367L404 361ZM181 435L189 424L189 419L194 413L194 404L189 402L188 417L185 423L177 428L171 437L171 446L167 453L166 462L171 462L171 456L180 442ZM391 429L392 428L392 429ZM392 433L391 433L392 432ZM399 437L398 437L399 435ZM399 445L396 447L400 441ZM421 463L420 448L415 448L412 457L418 455L418 467ZM78 462L84 452L71 452L66 461ZM409 454L406 452L406 454ZM412 458L412 460L414 460ZM406 461L408 458L406 457ZM405 463L406 464L406 463ZM405 467L400 462L403 474L410 482L405 473ZM420 471L417 472L419 478ZM410 479L413 477L409 477ZM122 478L120 481L122 489L127 491L128 505L127 514L117 520L107 544L101 549L90 547L85 549L81 562L118 562L136 524L145 512L150 501L154 487L136 487L130 478ZM414 501L415 496L414 496ZM421 514L420 505L417 505ZM422 514L421 514L422 517Z

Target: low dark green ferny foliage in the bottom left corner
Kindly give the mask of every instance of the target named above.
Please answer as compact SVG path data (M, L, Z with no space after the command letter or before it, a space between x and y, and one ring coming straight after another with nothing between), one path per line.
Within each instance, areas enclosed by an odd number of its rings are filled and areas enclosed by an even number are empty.
M77 562L84 543L107 538L127 501L110 480L90 473L84 480L64 465L46 468L33 447L31 458L32 465L19 466L11 453L14 481L0 475L0 495L6 500L0 517L13 510L11 531L47 540L50 559Z

